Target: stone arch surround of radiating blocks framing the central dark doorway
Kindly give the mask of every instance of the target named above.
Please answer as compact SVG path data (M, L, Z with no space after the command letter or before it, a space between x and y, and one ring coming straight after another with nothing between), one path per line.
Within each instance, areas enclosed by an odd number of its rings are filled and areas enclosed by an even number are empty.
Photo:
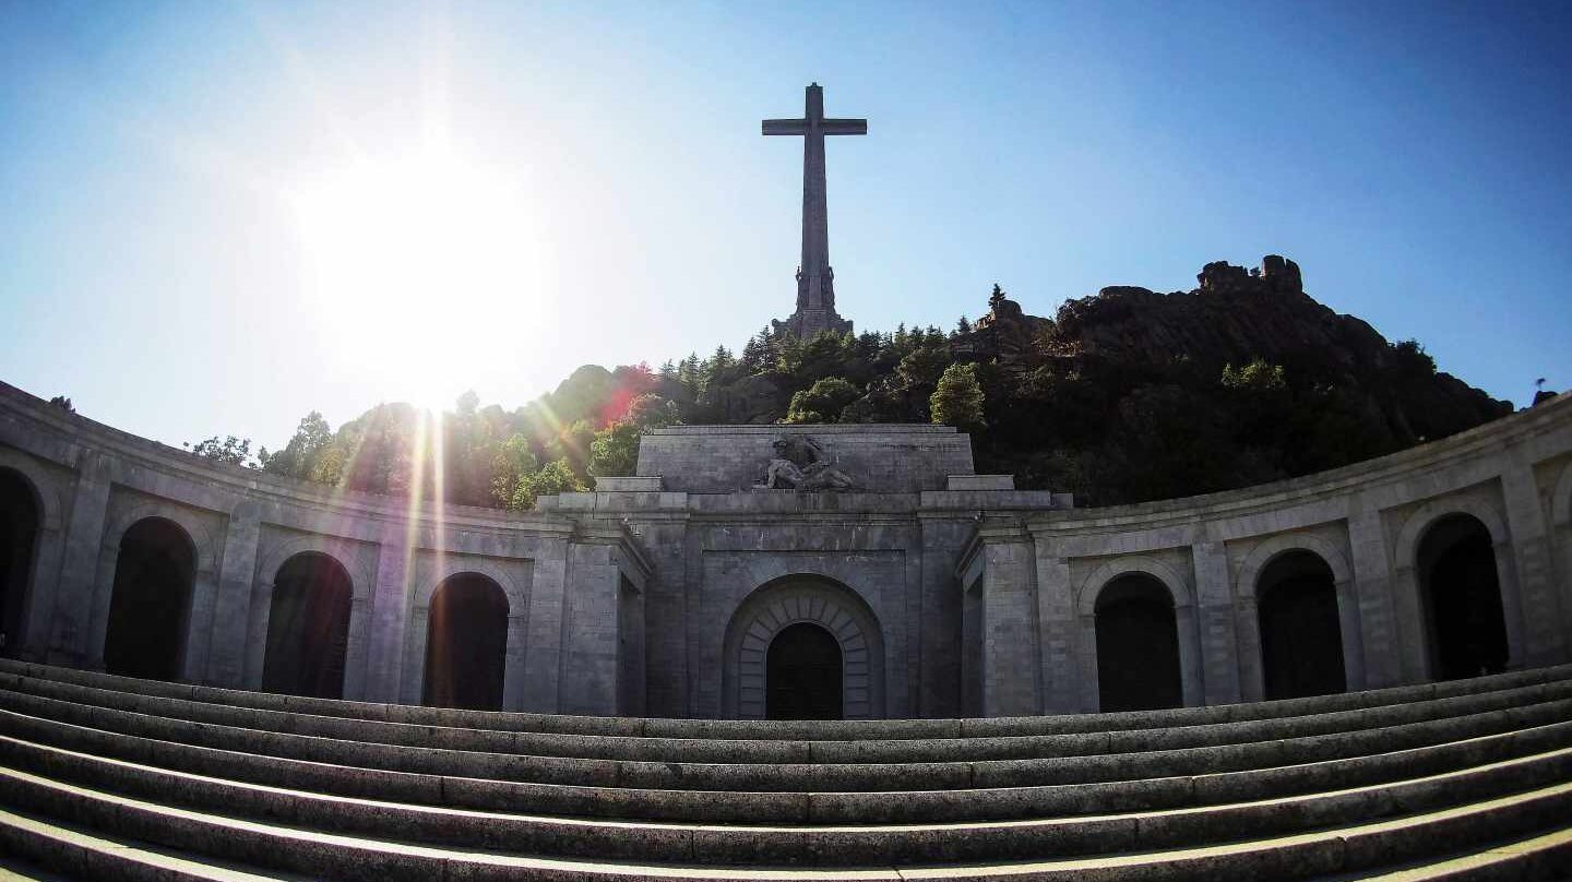
M723 709L726 717L769 718L769 654L797 624L828 634L841 659L839 718L871 720L885 712L883 634L872 608L850 588L822 575L788 575L747 596L726 629Z

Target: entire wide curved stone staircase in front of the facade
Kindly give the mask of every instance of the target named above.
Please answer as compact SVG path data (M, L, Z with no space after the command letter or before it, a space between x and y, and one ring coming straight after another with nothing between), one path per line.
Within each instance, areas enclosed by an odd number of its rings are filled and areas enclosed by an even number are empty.
M0 662L0 877L1559 879L1572 665L1174 711L443 711Z

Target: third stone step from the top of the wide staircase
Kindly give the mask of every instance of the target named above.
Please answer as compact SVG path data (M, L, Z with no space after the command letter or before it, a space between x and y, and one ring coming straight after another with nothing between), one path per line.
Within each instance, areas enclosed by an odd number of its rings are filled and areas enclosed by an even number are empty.
M1206 748L1028 761L764 766L538 758L388 745L170 720L5 690L0 690L0 709L146 739L363 769L596 788L773 792L1016 788L1199 775L1387 753L1572 718L1572 700L1561 700L1355 733Z

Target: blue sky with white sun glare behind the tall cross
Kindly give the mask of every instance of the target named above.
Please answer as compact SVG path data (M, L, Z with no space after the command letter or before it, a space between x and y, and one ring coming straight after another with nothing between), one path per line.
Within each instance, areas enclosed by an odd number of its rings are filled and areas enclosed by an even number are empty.
M858 329L1283 253L1572 387L1566 3L0 0L0 379L167 443L517 406L791 311L795 116Z

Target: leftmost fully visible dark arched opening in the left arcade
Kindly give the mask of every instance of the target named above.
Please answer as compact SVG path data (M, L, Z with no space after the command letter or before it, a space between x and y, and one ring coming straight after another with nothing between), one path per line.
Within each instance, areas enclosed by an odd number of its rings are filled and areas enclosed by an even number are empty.
M178 524L145 517L119 539L104 632L112 674L178 679L185 651L196 549Z

